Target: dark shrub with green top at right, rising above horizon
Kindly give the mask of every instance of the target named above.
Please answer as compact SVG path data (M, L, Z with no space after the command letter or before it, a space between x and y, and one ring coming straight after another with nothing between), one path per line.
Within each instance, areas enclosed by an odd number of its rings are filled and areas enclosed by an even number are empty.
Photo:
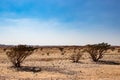
M107 43L87 45L86 51L90 54L93 61L97 62L103 58L103 54L110 49L110 45Z

